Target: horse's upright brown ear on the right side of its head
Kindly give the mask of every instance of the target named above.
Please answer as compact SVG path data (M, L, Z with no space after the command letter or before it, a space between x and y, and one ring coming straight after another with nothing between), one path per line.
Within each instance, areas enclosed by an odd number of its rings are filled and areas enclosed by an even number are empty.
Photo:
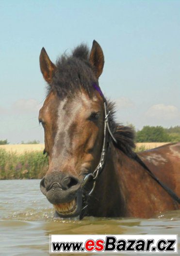
M99 78L104 66L104 55L100 45L95 40L93 41L89 61L94 67L96 77Z

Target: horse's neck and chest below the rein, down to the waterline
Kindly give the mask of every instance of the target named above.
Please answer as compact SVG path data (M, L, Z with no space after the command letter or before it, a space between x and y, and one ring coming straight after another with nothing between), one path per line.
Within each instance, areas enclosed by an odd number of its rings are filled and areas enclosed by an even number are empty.
M172 198L143 166L113 143L109 151L106 168L97 184L98 205L103 209L106 204L104 216L152 217L155 212L175 209Z

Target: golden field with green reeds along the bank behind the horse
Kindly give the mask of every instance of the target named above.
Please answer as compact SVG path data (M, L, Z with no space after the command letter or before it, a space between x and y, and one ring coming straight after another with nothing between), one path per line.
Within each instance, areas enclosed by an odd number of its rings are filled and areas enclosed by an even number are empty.
M136 152L166 143L137 143ZM44 144L0 145L0 179L42 178L48 170Z

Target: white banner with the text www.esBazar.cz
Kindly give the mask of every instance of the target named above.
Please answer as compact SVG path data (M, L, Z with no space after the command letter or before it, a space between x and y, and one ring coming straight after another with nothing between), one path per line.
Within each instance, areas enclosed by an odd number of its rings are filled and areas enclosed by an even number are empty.
M49 253L178 253L178 235L49 235Z

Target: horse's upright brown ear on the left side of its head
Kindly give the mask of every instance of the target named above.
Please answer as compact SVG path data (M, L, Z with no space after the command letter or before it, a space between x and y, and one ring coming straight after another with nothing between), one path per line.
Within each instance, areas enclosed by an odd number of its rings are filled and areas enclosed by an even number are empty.
M44 79L50 83L52 81L53 74L56 70L56 66L51 62L49 56L43 47L39 56L40 69Z

